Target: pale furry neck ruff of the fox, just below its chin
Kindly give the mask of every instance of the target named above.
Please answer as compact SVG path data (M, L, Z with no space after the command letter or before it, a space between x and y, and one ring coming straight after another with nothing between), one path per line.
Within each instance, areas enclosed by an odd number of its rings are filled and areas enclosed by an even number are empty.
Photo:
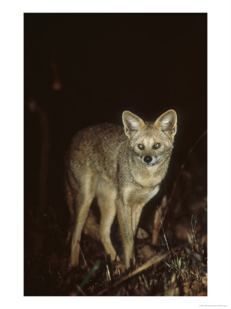
M136 155L130 157L130 166L132 166L130 172L134 181L146 188L153 188L159 185L165 178L167 168L169 165L169 159L153 166L145 166Z

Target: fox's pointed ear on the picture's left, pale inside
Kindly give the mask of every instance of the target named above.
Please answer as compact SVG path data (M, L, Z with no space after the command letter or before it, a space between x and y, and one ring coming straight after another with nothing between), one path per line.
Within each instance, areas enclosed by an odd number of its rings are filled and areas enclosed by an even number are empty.
M131 138L138 130L145 126L143 120L130 111L124 111L122 115L125 135Z

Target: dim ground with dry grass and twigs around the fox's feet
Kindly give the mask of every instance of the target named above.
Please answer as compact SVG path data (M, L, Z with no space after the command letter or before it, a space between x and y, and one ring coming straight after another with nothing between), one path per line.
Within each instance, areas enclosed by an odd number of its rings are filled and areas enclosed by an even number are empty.
M198 203L200 210L205 203ZM195 205L193 205L195 209ZM57 216L56 216L57 217ZM125 271L119 262L110 262L100 242L89 236L82 239L80 266L69 269L69 243L58 225L47 218L47 238L42 251L25 256L25 295L206 295L207 243L200 230L201 222L193 217L177 223L168 251L165 238L170 230L160 233L157 246L151 236L136 239L136 264ZM54 220L54 219L53 219ZM57 220L57 219L56 219ZM36 237L39 231L34 231ZM151 234L150 234L151 235ZM165 235L165 236L164 236ZM62 246L55 247L59 240Z

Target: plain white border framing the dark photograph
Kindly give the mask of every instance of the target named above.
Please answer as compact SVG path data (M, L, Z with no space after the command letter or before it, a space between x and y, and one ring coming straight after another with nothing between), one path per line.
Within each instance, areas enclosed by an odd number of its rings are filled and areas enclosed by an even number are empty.
M0 5L0 307L230 308L230 1L9 0ZM208 297L23 297L23 12L208 12Z

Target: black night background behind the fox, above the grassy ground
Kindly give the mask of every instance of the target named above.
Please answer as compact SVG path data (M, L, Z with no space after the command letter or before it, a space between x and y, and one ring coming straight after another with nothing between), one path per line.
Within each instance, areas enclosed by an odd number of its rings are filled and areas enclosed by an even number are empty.
M206 14L25 14L24 30L25 255L42 247L32 218L40 227L47 216L58 225L69 218L63 158L73 134L122 125L124 110L155 120L175 109L166 193L190 155L181 207L206 197L206 135L190 152L207 128Z

